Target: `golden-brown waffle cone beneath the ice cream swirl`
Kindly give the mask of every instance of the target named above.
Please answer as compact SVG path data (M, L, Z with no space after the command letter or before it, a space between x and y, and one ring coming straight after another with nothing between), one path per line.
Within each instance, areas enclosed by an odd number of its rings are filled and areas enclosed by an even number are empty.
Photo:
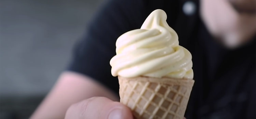
M137 119L183 119L194 80L118 76L120 102Z

